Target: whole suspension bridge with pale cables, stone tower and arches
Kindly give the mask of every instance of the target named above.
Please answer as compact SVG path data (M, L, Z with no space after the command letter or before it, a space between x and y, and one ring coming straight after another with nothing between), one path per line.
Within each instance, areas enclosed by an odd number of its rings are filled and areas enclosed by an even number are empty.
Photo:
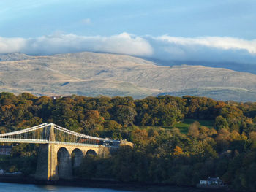
M132 146L124 140L91 137L54 123L0 134L0 142L40 144L35 178L50 181L72 179L73 168L80 165L85 155L104 155L121 145Z

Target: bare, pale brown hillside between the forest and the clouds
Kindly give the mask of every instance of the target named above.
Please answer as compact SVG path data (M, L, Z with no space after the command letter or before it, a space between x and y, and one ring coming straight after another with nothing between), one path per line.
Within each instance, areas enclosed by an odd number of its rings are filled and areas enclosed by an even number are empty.
M128 55L0 55L0 91L40 95L145 96L171 93L256 101L256 75L205 66L157 66Z

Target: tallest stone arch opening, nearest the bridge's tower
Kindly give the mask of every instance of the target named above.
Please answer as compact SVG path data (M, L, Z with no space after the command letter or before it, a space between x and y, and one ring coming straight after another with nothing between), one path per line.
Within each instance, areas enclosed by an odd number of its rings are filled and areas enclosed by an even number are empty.
M57 153L58 174L60 179L72 178L72 162L69 151L65 147L61 147Z

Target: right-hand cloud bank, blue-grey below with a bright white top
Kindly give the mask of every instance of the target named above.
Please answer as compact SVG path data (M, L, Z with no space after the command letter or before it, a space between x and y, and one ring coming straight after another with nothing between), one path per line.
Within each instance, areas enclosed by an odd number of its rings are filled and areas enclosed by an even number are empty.
M190 61L256 62L256 39L146 36L154 58Z

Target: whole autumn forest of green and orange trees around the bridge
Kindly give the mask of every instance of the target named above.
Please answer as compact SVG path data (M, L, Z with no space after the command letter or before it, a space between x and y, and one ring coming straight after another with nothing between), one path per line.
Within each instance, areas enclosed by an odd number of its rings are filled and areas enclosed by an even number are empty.
M256 103L0 93L0 133L45 122L135 144L104 157L85 157L75 170L80 178L195 186L210 176L237 191L256 191ZM178 126L184 122L187 128ZM10 157L0 157L0 167L33 174L38 147L15 145Z

